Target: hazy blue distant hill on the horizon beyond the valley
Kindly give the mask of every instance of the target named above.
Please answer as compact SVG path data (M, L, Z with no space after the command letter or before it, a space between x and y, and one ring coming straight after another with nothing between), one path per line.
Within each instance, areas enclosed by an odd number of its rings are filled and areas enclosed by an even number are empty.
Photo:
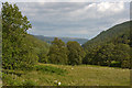
M34 35L34 36L37 37L38 40L45 41L46 43L51 43L55 38L53 36L43 36L43 35ZM65 43L67 43L68 41L77 41L79 44L84 44L88 41L87 38L78 38L78 37L58 37L58 38L61 38Z

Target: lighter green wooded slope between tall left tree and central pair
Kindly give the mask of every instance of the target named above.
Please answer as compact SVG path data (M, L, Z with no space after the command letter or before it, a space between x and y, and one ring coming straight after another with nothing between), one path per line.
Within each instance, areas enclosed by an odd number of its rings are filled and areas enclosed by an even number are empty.
M47 53L50 45L41 40L37 40L36 37L30 34L25 36L25 40L26 43L32 44L32 48L34 51L33 53L34 55L36 55L36 61L38 61L40 63L47 63L48 61Z

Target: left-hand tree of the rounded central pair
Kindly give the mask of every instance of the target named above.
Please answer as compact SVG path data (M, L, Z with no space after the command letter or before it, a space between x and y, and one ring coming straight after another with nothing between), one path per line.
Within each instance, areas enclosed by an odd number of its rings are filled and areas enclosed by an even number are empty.
M65 43L55 37L50 47L48 56L48 61L52 64L67 64L67 48Z

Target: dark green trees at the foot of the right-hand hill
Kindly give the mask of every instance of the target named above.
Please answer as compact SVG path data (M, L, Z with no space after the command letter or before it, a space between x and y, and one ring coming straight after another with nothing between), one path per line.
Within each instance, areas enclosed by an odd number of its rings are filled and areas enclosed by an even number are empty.
M84 64L130 68L130 46L128 44L103 44L89 51Z

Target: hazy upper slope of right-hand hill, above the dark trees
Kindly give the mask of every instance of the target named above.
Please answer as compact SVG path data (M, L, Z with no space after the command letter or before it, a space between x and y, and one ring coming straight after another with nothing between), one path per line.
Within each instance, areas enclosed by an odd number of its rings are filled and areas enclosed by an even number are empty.
M85 43L82 46L85 50L89 50L92 47L97 47L98 45L111 42L118 37L123 38L123 35L130 38L130 21L114 25L107 31L102 31L99 35L91 38L90 41Z

